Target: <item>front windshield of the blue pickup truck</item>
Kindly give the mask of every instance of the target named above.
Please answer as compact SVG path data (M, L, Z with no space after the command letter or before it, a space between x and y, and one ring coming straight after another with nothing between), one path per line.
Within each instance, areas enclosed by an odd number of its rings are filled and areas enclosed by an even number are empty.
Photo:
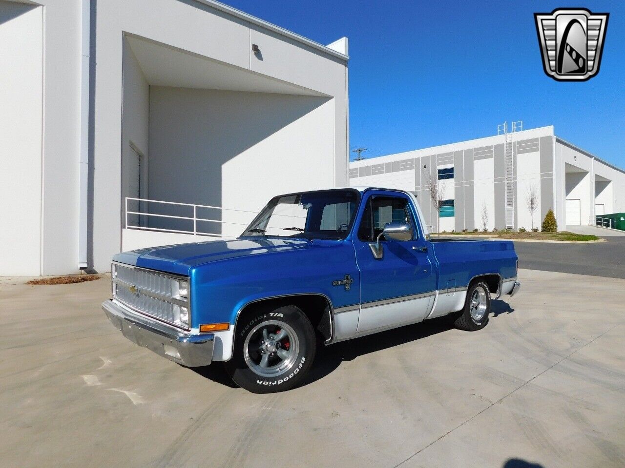
M276 197L242 236L344 239L356 214L356 190L326 190Z

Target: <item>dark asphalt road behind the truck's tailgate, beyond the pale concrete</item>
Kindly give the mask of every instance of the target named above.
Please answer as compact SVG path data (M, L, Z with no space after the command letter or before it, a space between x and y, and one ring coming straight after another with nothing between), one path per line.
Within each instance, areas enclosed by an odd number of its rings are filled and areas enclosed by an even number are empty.
M519 268L625 278L625 236L591 244L515 242L514 250Z

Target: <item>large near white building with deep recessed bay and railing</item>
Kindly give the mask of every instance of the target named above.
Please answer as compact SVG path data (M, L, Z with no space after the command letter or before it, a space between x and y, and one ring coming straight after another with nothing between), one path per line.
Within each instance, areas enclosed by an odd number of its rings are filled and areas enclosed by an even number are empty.
M24 0L0 44L0 275L109 271L183 240L128 227L237 234L276 193L347 183L346 38L212 0Z

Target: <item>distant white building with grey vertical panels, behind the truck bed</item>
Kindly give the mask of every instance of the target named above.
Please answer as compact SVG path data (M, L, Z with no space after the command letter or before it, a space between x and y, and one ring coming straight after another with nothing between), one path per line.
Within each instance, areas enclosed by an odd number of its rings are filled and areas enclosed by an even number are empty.
M594 224L596 215L625 212L625 171L554 135L553 127L504 133L466 142L350 163L352 186L414 192L426 223L437 230L434 181L442 193L440 230L532 227L527 199L537 193L533 225L549 209L559 230ZM436 182L437 181L437 182Z

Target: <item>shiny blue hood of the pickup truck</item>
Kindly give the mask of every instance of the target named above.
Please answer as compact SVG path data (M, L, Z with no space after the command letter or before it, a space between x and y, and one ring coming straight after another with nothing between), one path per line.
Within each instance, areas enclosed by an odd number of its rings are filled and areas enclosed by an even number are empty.
M321 246L316 243L317 241L306 239L266 239L262 237L214 240L131 250L113 256L113 261L178 275L189 275L189 270L192 267L203 263Z

